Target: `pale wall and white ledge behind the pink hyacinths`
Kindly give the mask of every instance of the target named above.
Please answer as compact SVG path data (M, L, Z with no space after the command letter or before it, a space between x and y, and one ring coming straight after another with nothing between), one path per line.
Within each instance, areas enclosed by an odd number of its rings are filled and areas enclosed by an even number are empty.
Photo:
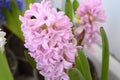
M53 6L64 10L65 0L52 0ZM72 0L73 1L73 0ZM81 2L81 0L79 0ZM59 4L59 5L58 5ZM102 6L106 13L106 30L110 47L110 73L109 80L120 80L120 1L102 0ZM96 53L88 54L94 62L98 75L101 67L101 47L94 46Z

